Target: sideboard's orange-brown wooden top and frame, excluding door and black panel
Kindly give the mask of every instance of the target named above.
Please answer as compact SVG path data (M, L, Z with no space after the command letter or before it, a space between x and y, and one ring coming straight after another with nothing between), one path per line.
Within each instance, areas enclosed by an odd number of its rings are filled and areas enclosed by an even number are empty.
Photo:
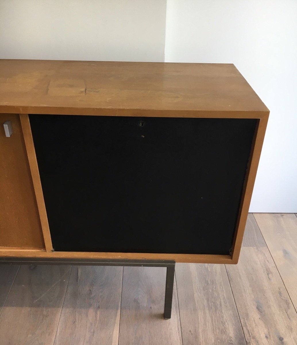
M177 262L197 263L237 262L269 110L234 65L0 60L0 72L0 112L21 114L45 248L50 256L175 259ZM74 114L259 119L240 201L232 257L162 253L50 253L52 244L26 115L28 113L41 116ZM1 246L5 247L0 243ZM22 246L16 244L11 247ZM43 251L30 254L47 255ZM1 250L0 255L22 256L28 253Z

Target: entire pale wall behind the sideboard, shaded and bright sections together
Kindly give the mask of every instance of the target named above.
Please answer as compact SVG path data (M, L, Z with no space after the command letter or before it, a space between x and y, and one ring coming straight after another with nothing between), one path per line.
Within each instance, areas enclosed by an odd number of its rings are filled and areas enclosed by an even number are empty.
M270 109L250 211L297 212L296 0L0 0L0 58L234 63ZM165 40L166 23L166 40Z

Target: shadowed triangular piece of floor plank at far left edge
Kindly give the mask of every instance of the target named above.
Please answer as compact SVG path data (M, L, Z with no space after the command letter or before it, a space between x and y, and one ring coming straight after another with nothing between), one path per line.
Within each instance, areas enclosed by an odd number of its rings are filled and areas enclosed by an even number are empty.
M0 265L0 315L19 267L19 265Z

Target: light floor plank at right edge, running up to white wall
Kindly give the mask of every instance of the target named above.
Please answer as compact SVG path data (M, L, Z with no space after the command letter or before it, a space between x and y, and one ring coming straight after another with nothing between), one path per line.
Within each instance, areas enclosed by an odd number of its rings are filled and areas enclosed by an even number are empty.
M294 213L256 213L255 219L297 309L297 217Z

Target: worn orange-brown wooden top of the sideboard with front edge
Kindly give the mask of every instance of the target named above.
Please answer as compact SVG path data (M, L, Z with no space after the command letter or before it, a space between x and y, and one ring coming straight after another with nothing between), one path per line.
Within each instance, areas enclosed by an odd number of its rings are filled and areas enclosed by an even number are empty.
M0 60L0 112L261 118L233 64Z

